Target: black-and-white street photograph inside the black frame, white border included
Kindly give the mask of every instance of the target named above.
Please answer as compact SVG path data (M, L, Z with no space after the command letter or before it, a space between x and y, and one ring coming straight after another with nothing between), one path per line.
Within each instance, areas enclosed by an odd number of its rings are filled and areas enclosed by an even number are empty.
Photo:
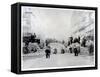
M21 70L95 67L95 10L21 7Z

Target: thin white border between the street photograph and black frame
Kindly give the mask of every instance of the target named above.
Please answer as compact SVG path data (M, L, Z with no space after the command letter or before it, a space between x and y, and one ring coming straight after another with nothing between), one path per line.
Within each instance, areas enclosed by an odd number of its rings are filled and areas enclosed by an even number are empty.
M22 11L22 8L23 7L32 7L32 6L21 6L21 16L23 14L23 11ZM40 7L38 7L40 8ZM45 7L43 7L45 8ZM48 7L49 8L49 7ZM52 8L53 9L53 8ZM55 8L55 9L60 9L60 8ZM61 8L62 10L63 8ZM70 9L69 9L70 10ZM72 10L76 10L76 9L72 9ZM81 9L77 9L77 10L80 10ZM84 10L85 11L85 10ZM90 11L90 10L89 10ZM94 10L92 10L94 11ZM21 25L22 25L22 17L21 17ZM22 57L22 51L23 51L23 44L22 44L22 32L23 32L23 29L22 29L22 26L21 26L21 71L28 71L28 70L45 70L45 69L61 69L61 68L80 68L80 67L95 67L95 25L94 25L94 65L81 65L81 66L66 66L66 67L46 67L46 68L27 68L27 69L24 69L22 67L22 64L23 64L23 57Z

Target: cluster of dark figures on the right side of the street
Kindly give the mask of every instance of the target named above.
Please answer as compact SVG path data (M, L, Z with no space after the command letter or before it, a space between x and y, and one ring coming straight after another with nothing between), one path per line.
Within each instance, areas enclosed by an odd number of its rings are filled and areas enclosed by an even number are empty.
M87 42L89 45L87 45ZM92 42L92 43L91 43ZM74 44L74 46L72 46ZM74 53L75 56L78 56L80 53L80 47L88 48L88 52L91 55L94 52L93 40L86 38L85 36L80 39L80 37L73 38L70 37L68 41L70 53Z

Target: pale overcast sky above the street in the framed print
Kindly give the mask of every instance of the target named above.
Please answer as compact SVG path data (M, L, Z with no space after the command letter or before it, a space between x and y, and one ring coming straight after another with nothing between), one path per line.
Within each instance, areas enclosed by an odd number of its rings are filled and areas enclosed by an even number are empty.
M73 24L82 19L79 16L84 17L82 12L76 13L73 9L24 6L22 7L22 29L23 32L36 33L43 38L66 39L75 30ZM74 13L77 16L74 16Z

